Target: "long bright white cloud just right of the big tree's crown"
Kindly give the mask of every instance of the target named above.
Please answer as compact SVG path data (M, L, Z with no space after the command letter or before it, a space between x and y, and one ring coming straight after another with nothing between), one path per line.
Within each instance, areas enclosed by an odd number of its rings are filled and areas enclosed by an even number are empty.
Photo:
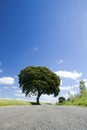
M69 79L73 79L76 80L79 77L81 77L82 73L78 73L77 71L57 71L55 72L58 76L63 77L63 78L69 78Z

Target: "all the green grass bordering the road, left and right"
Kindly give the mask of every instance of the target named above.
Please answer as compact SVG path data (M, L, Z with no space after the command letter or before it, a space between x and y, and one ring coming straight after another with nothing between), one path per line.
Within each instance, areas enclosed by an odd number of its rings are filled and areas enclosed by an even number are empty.
M0 106L12 106L12 105L37 105L37 103L21 100L0 99ZM40 105L54 105L54 103L40 103ZM56 105L87 106L87 92L83 95L76 95L74 97L70 97L69 101L65 101L63 103L57 103Z

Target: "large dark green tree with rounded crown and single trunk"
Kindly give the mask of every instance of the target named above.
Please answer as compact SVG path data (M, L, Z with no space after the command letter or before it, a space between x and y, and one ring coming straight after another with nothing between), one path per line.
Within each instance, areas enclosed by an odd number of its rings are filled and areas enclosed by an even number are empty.
M37 104L42 94L54 94L56 97L60 91L60 78L46 67L28 66L20 71L19 85L22 93L37 96Z

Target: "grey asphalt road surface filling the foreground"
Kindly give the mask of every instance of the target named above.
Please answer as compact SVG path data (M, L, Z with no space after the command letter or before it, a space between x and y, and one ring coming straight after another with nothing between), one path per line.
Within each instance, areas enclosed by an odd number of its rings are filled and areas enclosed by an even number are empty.
M87 130L87 108L0 107L0 130Z

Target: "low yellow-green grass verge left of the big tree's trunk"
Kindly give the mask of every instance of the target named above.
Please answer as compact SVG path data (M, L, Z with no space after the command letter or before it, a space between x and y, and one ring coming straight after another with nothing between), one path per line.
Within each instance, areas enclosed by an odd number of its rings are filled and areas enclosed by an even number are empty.
M28 101L0 99L0 106L30 105L30 104L31 103Z

